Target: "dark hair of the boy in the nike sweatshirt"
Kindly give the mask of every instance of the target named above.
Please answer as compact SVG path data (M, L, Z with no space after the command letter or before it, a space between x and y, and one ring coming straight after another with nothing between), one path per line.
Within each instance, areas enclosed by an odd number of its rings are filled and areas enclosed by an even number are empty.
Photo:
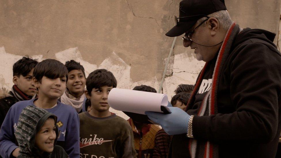
M93 88L100 88L102 86L113 86L116 88L117 81L114 75L106 69L97 69L89 74L86 80L86 89L91 96Z

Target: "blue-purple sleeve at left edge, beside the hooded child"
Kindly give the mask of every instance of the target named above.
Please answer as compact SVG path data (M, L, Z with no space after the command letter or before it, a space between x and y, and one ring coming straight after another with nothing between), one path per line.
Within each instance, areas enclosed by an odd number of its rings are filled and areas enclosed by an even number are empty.
M13 157L13 151L18 148L14 142L14 116L15 111L13 106L8 111L0 130L0 155L3 158Z

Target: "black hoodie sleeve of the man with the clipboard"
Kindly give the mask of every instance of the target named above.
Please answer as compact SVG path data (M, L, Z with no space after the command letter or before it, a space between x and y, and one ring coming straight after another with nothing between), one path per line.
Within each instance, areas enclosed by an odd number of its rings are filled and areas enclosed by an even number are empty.
M271 142L277 134L281 93L280 54L250 43L230 61L230 98L235 112L193 118L196 139ZM223 105L220 105L223 106ZM279 112L280 115L280 112Z

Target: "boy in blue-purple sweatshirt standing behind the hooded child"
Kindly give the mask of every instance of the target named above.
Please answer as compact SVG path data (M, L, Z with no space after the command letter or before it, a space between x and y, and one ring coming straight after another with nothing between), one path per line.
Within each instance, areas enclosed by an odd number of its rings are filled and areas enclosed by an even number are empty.
M66 88L67 68L59 61L46 59L39 62L33 72L33 82L38 89L38 98L20 101L7 113L0 130L0 154L2 157L17 157L19 148L14 131L22 110L29 105L44 108L58 117L58 145L70 157L79 157L79 117L75 109L58 102Z

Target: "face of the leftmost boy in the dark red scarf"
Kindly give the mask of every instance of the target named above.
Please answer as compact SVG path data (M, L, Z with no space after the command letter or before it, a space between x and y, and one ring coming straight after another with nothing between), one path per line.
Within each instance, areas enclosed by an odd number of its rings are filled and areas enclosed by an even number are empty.
M17 85L18 88L28 96L34 96L34 94L37 92L32 80L33 70L34 68L26 76L20 75L19 77L13 77L14 84Z

